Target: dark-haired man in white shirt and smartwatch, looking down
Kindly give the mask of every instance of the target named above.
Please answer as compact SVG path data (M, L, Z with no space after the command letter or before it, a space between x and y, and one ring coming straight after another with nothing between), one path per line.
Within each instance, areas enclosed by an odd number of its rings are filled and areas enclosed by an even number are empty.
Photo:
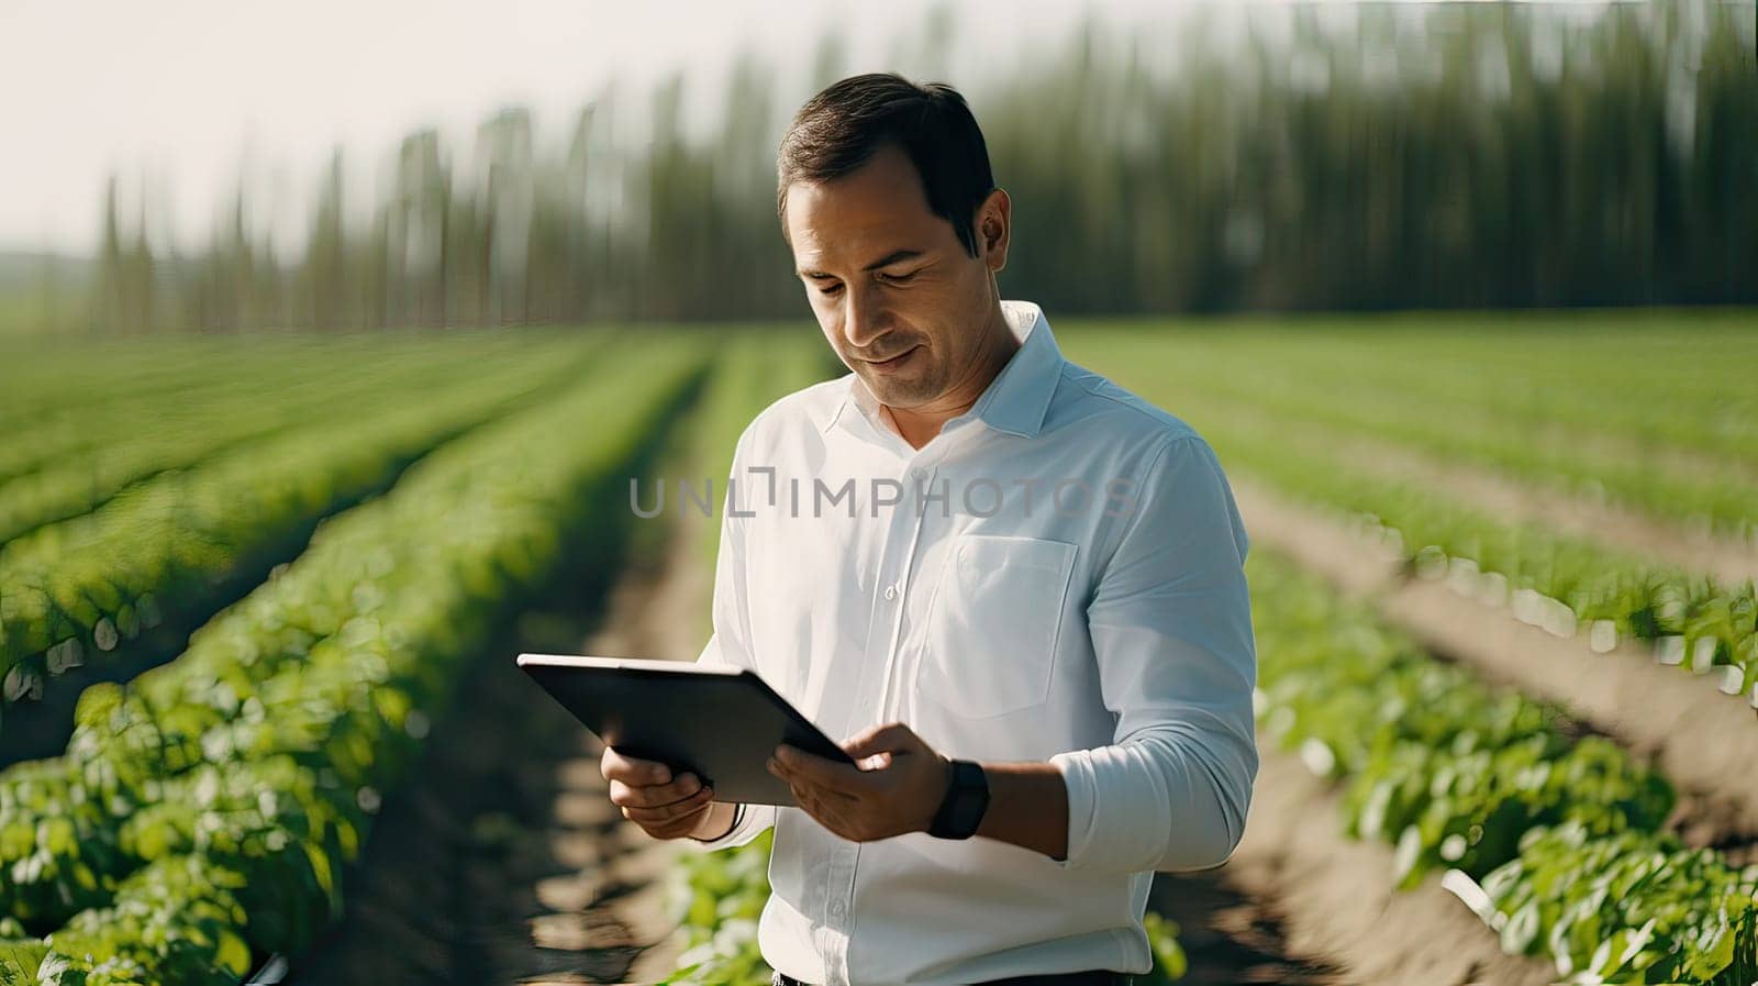
M603 772L661 838L775 826L758 935L784 986L1129 982L1153 872L1245 830L1232 492L1185 422L1000 301L1011 207L942 84L844 79L781 146L782 234L853 373L740 436L701 661L860 766L779 749L782 808L614 750Z

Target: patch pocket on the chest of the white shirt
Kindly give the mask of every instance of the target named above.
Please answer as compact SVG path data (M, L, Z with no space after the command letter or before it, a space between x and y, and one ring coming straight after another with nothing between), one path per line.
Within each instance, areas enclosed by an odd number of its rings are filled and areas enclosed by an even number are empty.
M928 603L916 694L960 719L990 719L1050 696L1074 545L960 534Z

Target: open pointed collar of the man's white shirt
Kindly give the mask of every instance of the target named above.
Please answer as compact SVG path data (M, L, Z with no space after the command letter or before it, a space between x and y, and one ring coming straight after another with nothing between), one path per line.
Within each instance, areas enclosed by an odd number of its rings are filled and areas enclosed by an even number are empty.
M977 402L946 424L977 418L995 431L1035 438L1044 425L1044 413L1057 392L1057 381L1062 378L1062 348L1057 346L1057 337L1050 332L1044 309L1035 302L1002 301L1000 311L1007 318L1014 339L1020 339L1020 350L1013 353L1007 366L1000 367ZM879 401L860 374L851 371L844 380L847 385L842 388L842 399L837 401L819 431L828 432L851 404L867 415L875 429L884 427L879 418Z

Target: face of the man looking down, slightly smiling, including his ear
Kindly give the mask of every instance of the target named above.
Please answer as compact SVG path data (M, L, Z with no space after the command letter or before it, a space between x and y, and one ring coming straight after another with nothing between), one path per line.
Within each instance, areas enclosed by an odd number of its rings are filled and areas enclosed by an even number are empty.
M835 181L788 188L788 237L812 313L881 402L932 410L981 373L1006 211L997 190L977 213L979 255L970 257L953 225L928 211L916 167L895 146ZM984 236L984 218L999 241Z

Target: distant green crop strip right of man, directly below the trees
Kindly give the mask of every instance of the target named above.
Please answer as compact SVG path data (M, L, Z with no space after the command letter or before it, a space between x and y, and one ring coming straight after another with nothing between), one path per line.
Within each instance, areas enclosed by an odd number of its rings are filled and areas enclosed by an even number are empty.
M1758 395L1742 378L1742 357L1758 357L1749 316L1245 320L1225 332L1104 332L1093 353L1181 395L1283 399L1303 420L1343 413L1385 434L1438 424L1442 441L1463 439L1486 462L1565 483L1623 471L1631 494L1672 515L1691 511L1658 503L1644 468L1663 482L1686 480L1667 476L1670 460L1719 462L1707 471L1725 478L1758 469Z

